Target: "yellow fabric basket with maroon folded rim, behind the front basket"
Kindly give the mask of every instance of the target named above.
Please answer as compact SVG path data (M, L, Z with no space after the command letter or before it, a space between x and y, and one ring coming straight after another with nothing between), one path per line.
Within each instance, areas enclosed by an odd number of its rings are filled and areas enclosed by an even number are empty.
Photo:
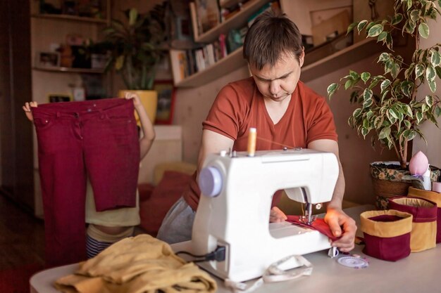
M436 246L437 205L416 197L392 197L389 208L404 211L413 216L411 252L422 252Z

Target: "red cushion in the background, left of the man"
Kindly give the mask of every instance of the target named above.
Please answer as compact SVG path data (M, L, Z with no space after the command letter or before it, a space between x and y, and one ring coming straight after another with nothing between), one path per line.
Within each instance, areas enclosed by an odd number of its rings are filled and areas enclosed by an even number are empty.
M154 188L149 200L139 202L141 228L156 237L162 220L170 207L188 188L192 176L178 171L165 171L163 178Z

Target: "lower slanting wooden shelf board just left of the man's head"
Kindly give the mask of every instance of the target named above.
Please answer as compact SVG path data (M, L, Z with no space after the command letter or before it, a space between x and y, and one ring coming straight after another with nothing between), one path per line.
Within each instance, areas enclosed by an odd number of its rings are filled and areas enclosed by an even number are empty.
M219 60L216 64L207 67L195 74L190 75L182 81L175 84L178 87L197 87L211 82L213 79L223 77L225 74L236 70L237 68L247 65L247 62L242 57L242 47L237 48L236 51L230 53L225 58Z

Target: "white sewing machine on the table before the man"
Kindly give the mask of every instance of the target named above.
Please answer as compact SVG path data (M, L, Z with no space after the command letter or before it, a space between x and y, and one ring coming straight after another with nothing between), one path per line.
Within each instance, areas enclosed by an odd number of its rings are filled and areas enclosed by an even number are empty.
M194 254L226 247L225 261L198 263L235 282L263 275L285 256L330 248L328 237L291 223L269 223L271 200L285 189L291 200L328 202L339 172L333 153L314 150L221 152L209 155L199 174L201 198L193 224ZM309 209L311 216L311 209ZM291 266L291 268L294 266Z

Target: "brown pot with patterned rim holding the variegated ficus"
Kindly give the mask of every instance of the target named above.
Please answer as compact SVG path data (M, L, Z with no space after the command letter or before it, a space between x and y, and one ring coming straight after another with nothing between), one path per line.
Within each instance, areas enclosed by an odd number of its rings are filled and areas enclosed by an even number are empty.
M430 180L437 181L440 169L430 166L430 170L432 171ZM412 182L402 179L406 175L410 175L409 170L401 169L397 161L371 163L373 194L377 209L387 209L387 200L390 197L407 195Z

